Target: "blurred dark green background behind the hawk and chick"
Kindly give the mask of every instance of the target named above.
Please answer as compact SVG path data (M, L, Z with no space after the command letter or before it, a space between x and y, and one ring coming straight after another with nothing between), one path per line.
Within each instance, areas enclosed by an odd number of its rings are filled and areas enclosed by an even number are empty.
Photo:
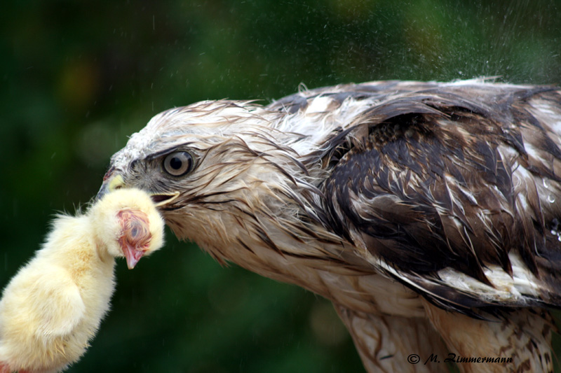
M0 15L0 284L55 211L100 186L152 115L379 79L560 83L560 1L6 1ZM360 372L325 300L191 244L117 267L72 372ZM412 351L414 352L414 351Z

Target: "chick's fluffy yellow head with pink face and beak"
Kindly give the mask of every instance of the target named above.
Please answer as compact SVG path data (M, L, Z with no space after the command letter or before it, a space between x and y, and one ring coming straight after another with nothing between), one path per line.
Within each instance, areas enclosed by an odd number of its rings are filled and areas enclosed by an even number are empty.
M163 246L163 219L149 195L138 189L107 193L90 209L97 241L133 269L144 255Z

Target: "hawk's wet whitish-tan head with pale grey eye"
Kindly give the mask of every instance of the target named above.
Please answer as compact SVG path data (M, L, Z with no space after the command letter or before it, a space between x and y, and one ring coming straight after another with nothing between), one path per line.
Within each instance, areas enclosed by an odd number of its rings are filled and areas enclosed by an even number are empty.
M160 113L111 157L98 195L139 188L180 239L230 244L232 232L247 230L239 222L274 200L284 206L278 211L296 209L280 199L295 195L306 171L286 135L267 127L279 116L225 100Z

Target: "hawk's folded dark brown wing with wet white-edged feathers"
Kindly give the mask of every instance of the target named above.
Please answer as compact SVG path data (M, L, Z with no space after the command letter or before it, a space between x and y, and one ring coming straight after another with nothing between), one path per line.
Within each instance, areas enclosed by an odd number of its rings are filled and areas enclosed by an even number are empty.
M433 87L354 121L325 146L323 188L374 265L458 310L560 302L559 92Z

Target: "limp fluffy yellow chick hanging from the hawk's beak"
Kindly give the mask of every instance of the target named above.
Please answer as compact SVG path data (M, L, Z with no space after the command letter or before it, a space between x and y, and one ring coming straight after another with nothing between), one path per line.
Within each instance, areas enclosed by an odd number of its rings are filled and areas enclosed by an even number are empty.
M114 258L132 269L161 246L163 220L141 190L116 190L84 215L58 216L4 290L0 372L58 372L79 360L109 310Z

